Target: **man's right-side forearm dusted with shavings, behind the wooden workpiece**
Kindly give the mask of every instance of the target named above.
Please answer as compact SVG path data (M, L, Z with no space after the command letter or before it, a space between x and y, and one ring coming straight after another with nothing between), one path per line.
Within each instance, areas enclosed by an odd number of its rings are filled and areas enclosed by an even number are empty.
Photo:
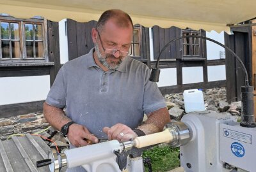
M145 134L157 133L163 131L164 125L170 121L168 110L161 108L148 114L148 119L145 121L145 124L140 125L137 129L140 129Z

